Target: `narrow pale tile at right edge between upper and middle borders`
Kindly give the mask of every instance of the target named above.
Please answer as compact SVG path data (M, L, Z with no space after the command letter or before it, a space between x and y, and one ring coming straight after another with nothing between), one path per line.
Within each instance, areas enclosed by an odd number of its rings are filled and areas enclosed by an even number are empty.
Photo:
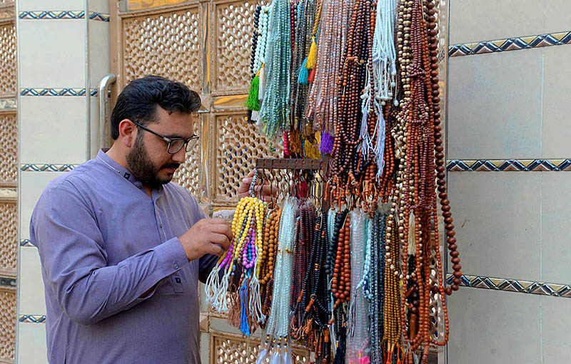
M571 1L570 1L571 4ZM571 22L570 22L571 30ZM571 46L545 48L543 158L571 157Z

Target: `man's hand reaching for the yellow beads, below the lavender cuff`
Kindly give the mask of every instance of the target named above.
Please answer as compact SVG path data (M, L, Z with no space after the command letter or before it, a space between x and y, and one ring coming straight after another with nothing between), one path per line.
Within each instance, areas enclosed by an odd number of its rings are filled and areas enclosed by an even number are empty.
M204 254L222 256L230 247L232 231L225 219L201 219L178 237L188 261Z

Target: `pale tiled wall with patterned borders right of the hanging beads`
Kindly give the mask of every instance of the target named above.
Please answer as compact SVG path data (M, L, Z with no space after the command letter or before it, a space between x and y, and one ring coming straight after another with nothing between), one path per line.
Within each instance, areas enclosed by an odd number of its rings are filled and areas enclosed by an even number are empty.
M571 355L571 1L449 0L448 363ZM535 293L535 294L534 294Z

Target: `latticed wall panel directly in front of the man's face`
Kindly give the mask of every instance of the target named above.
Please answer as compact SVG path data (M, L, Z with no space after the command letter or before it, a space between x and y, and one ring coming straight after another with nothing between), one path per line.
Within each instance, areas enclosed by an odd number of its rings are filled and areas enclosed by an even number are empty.
M194 133L196 135L202 135L202 123L201 118L198 115L193 115L194 118ZM191 152L186 153L186 161L181 167L176 170L173 177L174 182L180 184L182 187L188 189L191 194L197 199L201 197L201 142L191 150Z

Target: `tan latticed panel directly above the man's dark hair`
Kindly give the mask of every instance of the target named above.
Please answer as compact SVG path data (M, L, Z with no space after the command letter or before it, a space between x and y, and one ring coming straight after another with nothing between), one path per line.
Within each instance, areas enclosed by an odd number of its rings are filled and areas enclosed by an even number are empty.
M198 5L164 13L126 17L122 22L124 85L157 75L200 93L201 17Z

